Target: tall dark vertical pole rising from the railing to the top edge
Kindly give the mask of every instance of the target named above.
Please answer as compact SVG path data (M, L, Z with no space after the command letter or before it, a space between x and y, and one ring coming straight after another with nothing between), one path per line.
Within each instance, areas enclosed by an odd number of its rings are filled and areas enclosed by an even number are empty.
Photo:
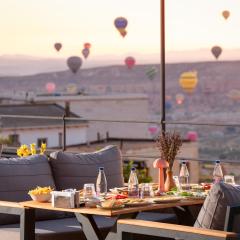
M166 112L165 112L165 0L161 0L161 11L160 11L160 18L161 18L161 128L162 131L165 132L166 130Z

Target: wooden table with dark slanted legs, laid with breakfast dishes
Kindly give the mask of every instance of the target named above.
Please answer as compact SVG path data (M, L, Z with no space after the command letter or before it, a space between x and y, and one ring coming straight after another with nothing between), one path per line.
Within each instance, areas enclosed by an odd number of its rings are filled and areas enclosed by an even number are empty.
M104 210L100 208L75 208L75 209L66 209L66 208L53 208L51 203L39 203L35 201L21 202L20 204L24 207L31 209L45 209L45 210L54 210L54 211L64 211L75 213L77 220L82 226L83 232L88 240L104 240L101 235L100 230L97 227L97 224L93 218L93 215L101 215L105 217L116 217L118 219L124 218L135 218L139 212L143 211L152 211L165 208L176 208L176 207L188 207L192 205L202 205L204 200L181 200L175 203L161 203L161 204L151 204L142 207L127 207L117 210ZM186 212L185 212L186 213ZM117 239L116 236L116 224L110 230L105 240Z

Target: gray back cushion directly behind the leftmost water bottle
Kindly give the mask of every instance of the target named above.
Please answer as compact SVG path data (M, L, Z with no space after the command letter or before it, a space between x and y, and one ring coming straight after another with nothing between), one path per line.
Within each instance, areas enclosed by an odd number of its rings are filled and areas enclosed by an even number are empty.
M122 159L117 146L92 153L53 152L50 164L58 190L82 189L84 183L95 183L99 167L105 169L108 188L123 186Z

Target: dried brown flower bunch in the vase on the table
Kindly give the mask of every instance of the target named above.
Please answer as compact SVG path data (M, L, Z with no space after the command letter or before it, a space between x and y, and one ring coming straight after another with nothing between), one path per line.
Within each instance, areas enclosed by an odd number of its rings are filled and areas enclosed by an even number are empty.
M160 158L166 160L169 164L169 170L172 170L174 160L182 146L181 136L177 132L161 132L156 140L157 148L160 151Z

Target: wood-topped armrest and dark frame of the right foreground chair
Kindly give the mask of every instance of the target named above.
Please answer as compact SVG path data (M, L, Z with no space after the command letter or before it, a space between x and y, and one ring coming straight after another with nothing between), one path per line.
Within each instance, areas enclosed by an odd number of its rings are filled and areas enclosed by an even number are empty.
M225 231L203 229L176 224L147 222L143 220L123 219L117 224L118 240L130 240L133 234L184 240L230 240L240 239L240 235L231 232L234 218L240 214L240 206L229 206L225 218Z

